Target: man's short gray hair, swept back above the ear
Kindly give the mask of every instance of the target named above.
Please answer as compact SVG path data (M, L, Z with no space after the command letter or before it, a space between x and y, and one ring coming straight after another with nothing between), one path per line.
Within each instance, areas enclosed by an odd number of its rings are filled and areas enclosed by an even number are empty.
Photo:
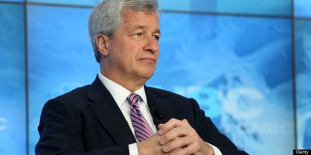
M100 62L101 53L97 49L96 36L104 34L113 39L114 33L122 26L124 20L121 12L124 9L131 9L137 12L158 14L157 0L103 0L97 4L89 17L89 35L94 49L95 58Z

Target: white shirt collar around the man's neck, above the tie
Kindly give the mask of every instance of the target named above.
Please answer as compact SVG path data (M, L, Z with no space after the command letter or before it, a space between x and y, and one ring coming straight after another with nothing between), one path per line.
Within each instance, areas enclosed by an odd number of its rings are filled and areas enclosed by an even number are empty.
M117 105L120 107L124 100L127 98L127 96L131 93L126 88L122 87L118 83L113 82L112 80L108 79L107 77L104 77L101 72L98 74L98 77L103 82L104 86L108 89L110 94L112 95L114 101L117 103ZM145 93L145 87L142 86L138 90L135 91L136 94L138 94L142 101L146 103L147 105L147 97Z

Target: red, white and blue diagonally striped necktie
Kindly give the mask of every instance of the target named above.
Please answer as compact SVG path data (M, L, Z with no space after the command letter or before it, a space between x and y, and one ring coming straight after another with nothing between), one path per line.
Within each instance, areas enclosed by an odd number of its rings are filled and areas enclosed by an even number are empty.
M131 104L131 119L136 136L139 141L143 141L152 137L155 133L143 116L143 113L139 110L139 98L138 94L132 93L127 97L127 101Z

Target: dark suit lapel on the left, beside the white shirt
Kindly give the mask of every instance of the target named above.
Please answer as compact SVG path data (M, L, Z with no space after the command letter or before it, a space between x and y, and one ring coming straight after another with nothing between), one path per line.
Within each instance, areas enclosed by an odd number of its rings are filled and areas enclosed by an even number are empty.
M136 143L121 110L98 76L89 88L88 97L93 101L88 105L118 145Z

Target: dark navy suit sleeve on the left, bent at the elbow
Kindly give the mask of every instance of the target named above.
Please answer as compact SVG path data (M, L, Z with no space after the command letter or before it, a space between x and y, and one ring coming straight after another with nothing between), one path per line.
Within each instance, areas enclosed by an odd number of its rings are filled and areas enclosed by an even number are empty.
M128 145L86 152L77 114L57 99L48 101L41 114L36 155L129 155Z

